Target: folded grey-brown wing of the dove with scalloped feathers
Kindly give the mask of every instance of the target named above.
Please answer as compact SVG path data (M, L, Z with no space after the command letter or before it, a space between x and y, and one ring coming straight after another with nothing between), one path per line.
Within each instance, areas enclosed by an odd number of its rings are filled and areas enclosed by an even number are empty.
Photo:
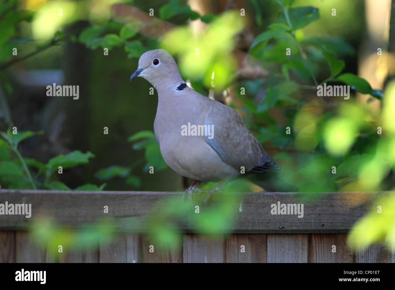
M213 105L205 125L213 125L214 137L205 138L225 163L237 170L244 166L246 172L280 171L280 166L263 150L235 110L221 103Z

